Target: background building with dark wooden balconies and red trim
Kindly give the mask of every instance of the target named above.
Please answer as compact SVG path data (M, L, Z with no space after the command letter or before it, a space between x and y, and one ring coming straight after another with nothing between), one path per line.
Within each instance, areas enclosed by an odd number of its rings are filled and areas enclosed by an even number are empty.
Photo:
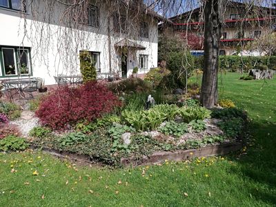
M275 30L276 12L273 8L227 1L219 46L220 55L262 55L262 51L249 52L246 44L263 34ZM204 17L202 8L170 18L172 28L181 37L187 38L192 50L203 50Z

